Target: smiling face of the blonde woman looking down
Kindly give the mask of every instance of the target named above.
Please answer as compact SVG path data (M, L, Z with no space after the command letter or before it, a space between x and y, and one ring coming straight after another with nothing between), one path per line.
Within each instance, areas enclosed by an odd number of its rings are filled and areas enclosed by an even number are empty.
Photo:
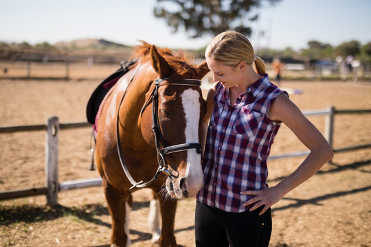
M237 67L232 67L216 61L212 58L206 58L207 66L214 77L214 82L221 82L225 89L236 86L242 80L242 73Z

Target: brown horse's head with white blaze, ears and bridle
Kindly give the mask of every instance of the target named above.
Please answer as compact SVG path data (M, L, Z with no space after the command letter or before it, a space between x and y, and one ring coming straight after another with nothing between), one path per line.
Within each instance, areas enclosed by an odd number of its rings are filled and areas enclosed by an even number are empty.
M159 51L150 47L150 61L158 80L146 95L142 134L157 148L159 164L168 176L166 189L170 196L186 198L195 196L203 185L199 127L206 102L199 86L209 69L205 62L190 65L183 58Z

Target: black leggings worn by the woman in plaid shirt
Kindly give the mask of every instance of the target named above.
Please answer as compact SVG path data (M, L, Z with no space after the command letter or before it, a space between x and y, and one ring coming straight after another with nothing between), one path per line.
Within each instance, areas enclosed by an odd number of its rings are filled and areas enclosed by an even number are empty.
M266 247L272 231L271 209L259 215L262 207L243 213L229 213L196 202L197 247Z

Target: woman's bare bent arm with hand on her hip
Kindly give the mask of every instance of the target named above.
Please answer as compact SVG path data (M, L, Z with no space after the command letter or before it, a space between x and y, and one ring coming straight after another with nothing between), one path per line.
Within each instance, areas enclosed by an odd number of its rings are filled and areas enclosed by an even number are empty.
M286 193L311 178L325 163L333 158L333 150L324 136L315 126L304 117L299 108L284 94L279 95L269 109L269 119L282 121L296 137L311 150L310 154L297 167L295 172L282 180L278 185L260 191L243 191L243 194L254 195L244 206L254 204L251 211L265 205L260 214L281 200Z

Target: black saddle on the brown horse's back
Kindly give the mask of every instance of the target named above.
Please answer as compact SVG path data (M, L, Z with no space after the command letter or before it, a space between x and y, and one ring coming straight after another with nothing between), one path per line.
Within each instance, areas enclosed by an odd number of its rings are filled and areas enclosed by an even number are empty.
M117 69L115 73L104 79L93 91L87 103L87 121L89 124L95 124L95 118L97 117L100 104L102 104L104 97L122 75L129 71L129 67L131 67L135 62L136 61L121 62L120 69Z

